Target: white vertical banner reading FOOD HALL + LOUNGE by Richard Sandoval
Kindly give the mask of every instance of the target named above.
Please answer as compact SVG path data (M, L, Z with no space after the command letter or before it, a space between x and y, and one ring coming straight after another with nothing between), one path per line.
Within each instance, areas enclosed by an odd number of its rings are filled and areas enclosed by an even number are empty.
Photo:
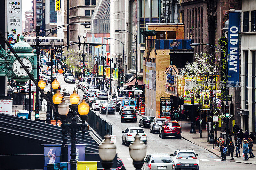
M7 1L7 39L11 46L19 42L22 35L21 0Z

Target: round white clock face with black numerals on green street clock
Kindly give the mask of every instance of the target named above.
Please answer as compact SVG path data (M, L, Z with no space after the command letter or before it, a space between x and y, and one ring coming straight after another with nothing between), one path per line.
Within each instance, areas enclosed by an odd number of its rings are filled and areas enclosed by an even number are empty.
M32 70L32 63L27 58L20 58L22 63L25 65L25 67L28 69L29 72ZM12 71L14 74L16 74L19 77L25 77L28 76L25 69L21 66L18 60L15 60L12 64Z

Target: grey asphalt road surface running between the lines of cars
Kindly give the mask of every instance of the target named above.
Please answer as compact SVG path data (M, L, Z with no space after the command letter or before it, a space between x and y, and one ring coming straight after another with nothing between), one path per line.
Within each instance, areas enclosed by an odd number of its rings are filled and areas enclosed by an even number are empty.
M74 87L76 84L68 84L64 82L64 77L62 75L58 75L58 81L60 82L61 89L66 88L66 91L72 94ZM84 92L80 89L78 90L78 95L83 97ZM96 111L99 114L99 111ZM100 115L100 114L99 114ZM106 115L100 115L106 119ZM116 152L118 157L121 158L124 162L124 165L127 170L135 169L132 166L132 159L129 155L129 148L121 143L121 135L122 131L124 131L128 127L138 127L138 122L141 116L137 116L137 123L134 122L124 122L121 123L121 117L118 112L115 115L108 115L108 122L113 125L113 135L116 135ZM147 154L149 153L168 153L172 154L177 149L193 149L199 156L199 166L200 169L212 170L212 169L255 169L255 165L252 164L243 164L243 163L235 163L230 162L231 157L227 157L226 162L221 162L220 158L216 155L208 152L204 148L197 146L185 139L175 139L174 137L167 137L166 139L161 139L158 137L158 134L150 133L149 129L144 129L147 134ZM241 150L240 150L241 152Z

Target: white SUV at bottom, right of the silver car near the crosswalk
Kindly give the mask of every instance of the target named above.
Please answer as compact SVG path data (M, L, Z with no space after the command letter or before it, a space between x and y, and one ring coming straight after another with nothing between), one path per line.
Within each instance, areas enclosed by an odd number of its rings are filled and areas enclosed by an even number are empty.
M199 170L199 160L193 149L176 150L171 154L175 169L196 169Z

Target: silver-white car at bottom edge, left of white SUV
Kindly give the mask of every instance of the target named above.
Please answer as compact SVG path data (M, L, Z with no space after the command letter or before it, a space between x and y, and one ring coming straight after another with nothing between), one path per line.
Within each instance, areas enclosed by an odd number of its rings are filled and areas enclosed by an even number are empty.
M143 164L143 170L168 169L174 170L175 166L172 158L167 153L149 154Z

